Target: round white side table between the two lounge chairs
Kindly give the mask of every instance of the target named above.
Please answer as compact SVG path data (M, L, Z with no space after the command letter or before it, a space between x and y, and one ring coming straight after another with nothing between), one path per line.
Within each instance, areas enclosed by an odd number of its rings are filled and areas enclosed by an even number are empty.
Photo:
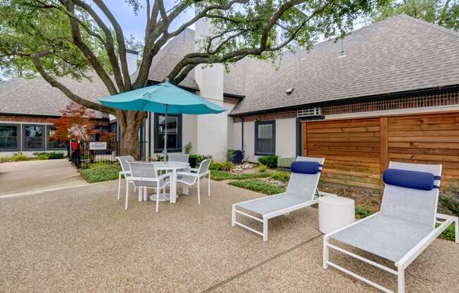
M327 234L356 220L355 203L346 197L320 197L319 230Z

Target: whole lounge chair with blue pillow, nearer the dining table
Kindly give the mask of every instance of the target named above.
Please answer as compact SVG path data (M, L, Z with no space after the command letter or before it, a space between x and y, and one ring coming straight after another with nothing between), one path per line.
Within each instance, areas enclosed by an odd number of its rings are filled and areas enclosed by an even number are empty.
M242 201L232 205L231 224L234 227L239 225L258 235L263 236L263 241L268 241L268 220L277 216L306 208L317 204L320 193L317 190L320 172L324 158L308 158L298 156L296 161L291 164L291 176L287 191L281 194L261 197L250 201ZM249 213L255 213L253 216ZM263 224L263 232L259 232L251 227L237 222L237 214L246 216Z

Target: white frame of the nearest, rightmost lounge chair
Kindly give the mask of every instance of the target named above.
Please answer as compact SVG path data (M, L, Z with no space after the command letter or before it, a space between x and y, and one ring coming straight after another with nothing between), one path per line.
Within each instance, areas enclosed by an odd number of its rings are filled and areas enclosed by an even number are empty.
M436 190L436 192L437 192L437 203L438 203L438 192L439 192L438 189ZM436 223L440 225L434 228L432 232L429 232L429 234L426 235L420 242L418 242L415 245L415 247L410 249L408 253L406 253L400 260L394 263L396 266L396 270L383 266L380 263L376 263L375 261L371 261L370 259L364 258L363 256L359 256L357 254L354 254L351 251L347 251L346 249L342 249L341 247L337 247L336 245L329 243L329 239L333 235L336 235L338 232L346 230L349 227L352 227L353 225L358 225L362 223L363 221L370 220L370 218L379 215L379 213L380 212L374 213L373 215L368 216L367 218L363 218L362 220L358 220L352 224L346 225L345 227L341 227L339 230L335 230L324 236L324 242L323 242L323 268L324 270L327 270L329 266L332 266L333 268L337 268L338 270L341 270L341 272L351 275L352 277L362 282L365 282L368 285L376 287L377 289L383 292L394 293L394 291L391 291L390 289L387 289L386 287L383 287L382 285L372 282L371 280L368 280L367 278L364 278L361 275L358 275L357 273L353 273L351 270L347 270L346 268L343 268L342 266L339 266L336 263L332 263L332 261L329 261L329 249L334 249L343 254L356 258L359 261L363 261L372 266L375 266L376 268L380 268L382 270L385 270L386 272L396 275L397 276L397 292L405 293L405 269L410 265L410 263L412 263L417 258L417 256L419 256L422 253L422 251L424 251L424 249L426 249L429 246L429 244L431 244L436 239L436 237L439 237L441 232L446 230L446 228L452 223L455 223L455 243L459 243L458 217L448 216L448 215L444 215L441 213L436 213ZM368 239L368 241L371 241L371 239Z

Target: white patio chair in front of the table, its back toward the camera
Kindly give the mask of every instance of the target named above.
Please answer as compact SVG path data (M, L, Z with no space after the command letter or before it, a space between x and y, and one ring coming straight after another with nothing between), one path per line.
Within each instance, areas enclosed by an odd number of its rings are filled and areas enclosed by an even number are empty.
M126 182L126 203L125 209L127 209L129 185L128 182L134 182L134 185L143 189L144 200L147 199L146 189L156 188L156 213L158 213L159 207L159 194L161 190L165 192L165 187L170 184L170 181L166 180L170 177L170 173L165 173L158 176L156 173L155 165L149 162L127 162L131 168L131 176L127 177Z

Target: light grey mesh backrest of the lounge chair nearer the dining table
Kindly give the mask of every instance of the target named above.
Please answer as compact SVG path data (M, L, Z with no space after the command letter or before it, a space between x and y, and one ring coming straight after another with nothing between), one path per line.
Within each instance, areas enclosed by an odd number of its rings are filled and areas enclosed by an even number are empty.
M296 157L296 161L317 162L323 166L325 158L310 158L306 156ZM322 170L322 167L320 167ZM291 173L289 185L287 185L287 194L297 197L306 197L308 200L313 200L315 190L319 184L320 172L316 174Z

